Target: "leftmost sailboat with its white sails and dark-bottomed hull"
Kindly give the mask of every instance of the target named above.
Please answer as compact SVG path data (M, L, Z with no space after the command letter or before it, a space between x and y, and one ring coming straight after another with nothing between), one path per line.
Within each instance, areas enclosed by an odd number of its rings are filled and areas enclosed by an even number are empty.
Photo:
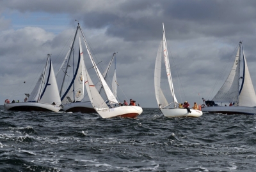
M26 94L26 102L4 103L6 110L16 111L55 111L61 109L61 100L58 91L51 56L48 54L44 71L31 94Z

